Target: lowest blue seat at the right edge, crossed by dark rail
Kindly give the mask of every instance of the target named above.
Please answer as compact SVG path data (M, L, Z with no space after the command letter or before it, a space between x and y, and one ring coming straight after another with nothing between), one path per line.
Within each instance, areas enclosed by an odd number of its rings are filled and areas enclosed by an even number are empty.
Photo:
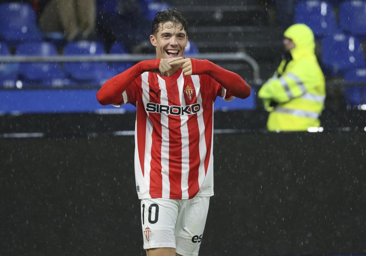
M345 82L361 82L360 86L345 86L343 88L343 98L346 105L358 106L366 104L366 67L352 68L344 76Z

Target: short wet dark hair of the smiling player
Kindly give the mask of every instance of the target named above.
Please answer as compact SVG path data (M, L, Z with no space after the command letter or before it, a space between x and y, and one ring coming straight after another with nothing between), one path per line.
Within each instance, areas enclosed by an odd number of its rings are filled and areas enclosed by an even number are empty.
M165 8L164 11L157 12L155 18L153 20L153 25L151 32L153 35L157 33L160 24L164 24L165 22L172 22L174 26L178 25L178 23L182 24L182 29L188 31L188 23L186 18L175 8Z

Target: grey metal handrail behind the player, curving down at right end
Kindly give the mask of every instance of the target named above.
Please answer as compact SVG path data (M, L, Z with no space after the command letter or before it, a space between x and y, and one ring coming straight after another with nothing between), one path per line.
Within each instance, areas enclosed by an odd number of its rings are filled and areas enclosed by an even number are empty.
M259 75L259 65L252 57L245 53L198 53L187 55L195 59L208 60L241 60L246 61L253 68L254 83L262 82ZM142 61L155 59L154 54L99 54L99 55L72 55L72 56L0 56L0 63L14 62L82 62L82 61Z

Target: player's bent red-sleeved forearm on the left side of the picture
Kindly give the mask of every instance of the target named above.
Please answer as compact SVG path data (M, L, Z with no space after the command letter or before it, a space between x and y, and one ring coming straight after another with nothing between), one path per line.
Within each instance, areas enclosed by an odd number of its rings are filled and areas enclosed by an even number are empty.
M101 105L119 103L123 101L122 93L143 72L159 69L160 59L144 60L126 71L113 76L105 82L97 93L97 100Z

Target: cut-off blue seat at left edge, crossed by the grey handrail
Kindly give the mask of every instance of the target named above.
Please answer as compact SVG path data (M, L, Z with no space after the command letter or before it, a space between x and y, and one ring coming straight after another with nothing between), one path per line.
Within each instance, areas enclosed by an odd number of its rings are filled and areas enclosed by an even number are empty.
M5 43L0 42L0 56L11 56ZM14 88L18 80L18 63L0 63L0 87Z

